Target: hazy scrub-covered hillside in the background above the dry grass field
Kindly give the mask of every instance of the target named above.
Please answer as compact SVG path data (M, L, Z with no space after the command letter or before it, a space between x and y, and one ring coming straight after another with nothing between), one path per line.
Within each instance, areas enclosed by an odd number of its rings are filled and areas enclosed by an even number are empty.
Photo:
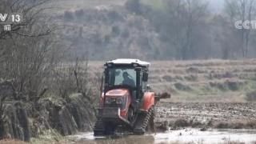
M64 0L54 2L59 8L54 17L63 26L62 43L79 58L254 58L254 31L243 47L239 30L224 12L224 2L194 1L192 15L187 2Z

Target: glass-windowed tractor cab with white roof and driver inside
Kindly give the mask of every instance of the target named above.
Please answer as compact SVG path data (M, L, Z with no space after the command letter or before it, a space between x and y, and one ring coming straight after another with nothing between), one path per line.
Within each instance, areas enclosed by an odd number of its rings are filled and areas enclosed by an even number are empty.
M140 100L146 92L149 62L138 59L116 59L106 62L104 92L128 89L133 100Z

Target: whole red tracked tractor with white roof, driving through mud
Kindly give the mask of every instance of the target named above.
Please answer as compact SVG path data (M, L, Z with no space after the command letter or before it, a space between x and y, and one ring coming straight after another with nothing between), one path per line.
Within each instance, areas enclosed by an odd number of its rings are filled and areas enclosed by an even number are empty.
M154 125L155 94L147 85L149 62L116 59L106 62L94 135L130 130L144 134Z

